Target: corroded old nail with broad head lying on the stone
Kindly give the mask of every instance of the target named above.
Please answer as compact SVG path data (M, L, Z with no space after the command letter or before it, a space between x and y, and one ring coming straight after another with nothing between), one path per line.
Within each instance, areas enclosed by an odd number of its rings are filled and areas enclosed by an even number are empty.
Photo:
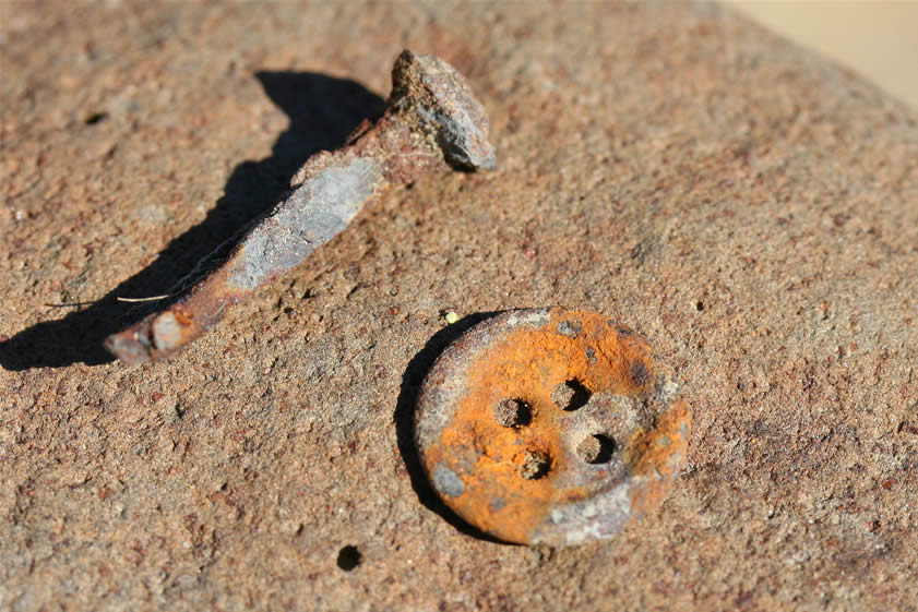
M349 145L310 157L293 191L255 225L226 263L180 301L106 338L126 363L171 356L227 309L299 265L392 187L433 170L497 166L488 119L465 77L433 56L402 52L383 116L361 124Z

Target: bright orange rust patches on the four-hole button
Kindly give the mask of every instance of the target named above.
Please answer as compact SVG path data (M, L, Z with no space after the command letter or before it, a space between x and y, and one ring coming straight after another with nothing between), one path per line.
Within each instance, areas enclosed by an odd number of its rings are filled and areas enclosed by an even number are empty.
M496 332L494 338L477 339L484 347L467 340L469 346L456 350L464 363L453 363L456 356L452 356L441 368L434 367L432 377L443 384L445 372L463 372L463 391L450 401L454 411L438 430L439 439L418 443L429 475L439 467L461 480L439 489L446 505L487 533L527 543L551 541L545 526L551 524L552 511L588 500L611 473L611 468L601 466L587 469L570 443L571 435L583 439L605 432L571 432L583 421L573 420L552 401L552 389L568 383L582 386L589 396L643 398L658 393L659 381L647 343L598 313L518 312L521 317L543 316L540 324L516 324L508 313L501 323L508 329ZM494 407L508 399L529 407L526 423L508 427L494 418ZM621 449L624 463L617 464L616 473L639 477L628 491L634 509L629 516L643 514L665 497L684 457L688 423L690 412L680 403L649 431L631 427L628 437L620 440L627 443ZM522 468L533 454L548 459L547 473L525 478Z

